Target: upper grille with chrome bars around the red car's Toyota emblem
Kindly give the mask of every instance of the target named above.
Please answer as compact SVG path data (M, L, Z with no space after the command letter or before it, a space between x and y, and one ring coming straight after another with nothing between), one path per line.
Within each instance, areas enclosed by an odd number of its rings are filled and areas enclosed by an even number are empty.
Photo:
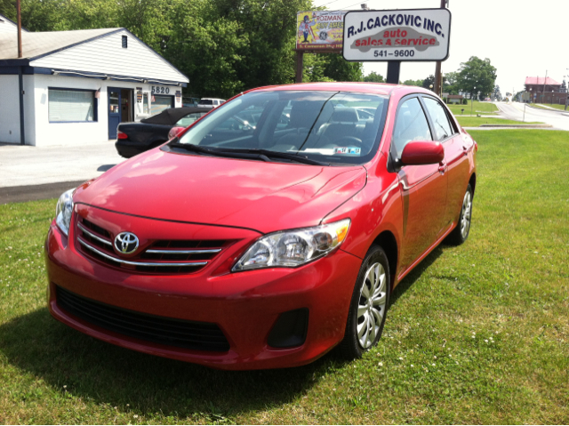
M84 218L77 222L76 241L79 251L97 261L119 269L157 274L196 272L233 243L230 240L156 240L136 256L122 259L113 250L111 233Z

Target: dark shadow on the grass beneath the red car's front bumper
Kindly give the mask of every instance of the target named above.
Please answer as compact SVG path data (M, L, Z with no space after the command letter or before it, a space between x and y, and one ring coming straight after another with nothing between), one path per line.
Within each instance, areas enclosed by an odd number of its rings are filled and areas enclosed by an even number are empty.
M326 355L297 368L213 370L100 342L60 324L47 309L0 326L0 352L54 390L178 419L215 413L228 417L280 406L309 390L329 368L341 366L341 360Z

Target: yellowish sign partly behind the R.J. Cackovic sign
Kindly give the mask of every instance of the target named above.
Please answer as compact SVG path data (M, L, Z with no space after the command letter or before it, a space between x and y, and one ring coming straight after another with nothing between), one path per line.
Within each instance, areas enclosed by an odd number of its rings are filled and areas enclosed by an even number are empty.
M296 15L296 49L341 52L345 11L309 11Z

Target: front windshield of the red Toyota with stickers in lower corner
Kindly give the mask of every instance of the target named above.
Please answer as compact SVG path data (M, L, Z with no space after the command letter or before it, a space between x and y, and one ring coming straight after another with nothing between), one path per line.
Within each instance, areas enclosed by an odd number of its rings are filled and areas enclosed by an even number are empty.
M377 151L387 104L384 96L352 92L245 93L204 117L180 143L359 165Z

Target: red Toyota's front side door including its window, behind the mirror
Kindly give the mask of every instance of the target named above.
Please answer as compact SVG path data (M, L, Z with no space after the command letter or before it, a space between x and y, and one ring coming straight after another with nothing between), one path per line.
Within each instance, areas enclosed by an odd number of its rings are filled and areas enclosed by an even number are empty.
M419 95L405 97L397 108L391 157L397 164L410 141L432 141L429 120ZM404 165L397 170L403 201L401 273L437 240L444 225L447 175L445 165Z

